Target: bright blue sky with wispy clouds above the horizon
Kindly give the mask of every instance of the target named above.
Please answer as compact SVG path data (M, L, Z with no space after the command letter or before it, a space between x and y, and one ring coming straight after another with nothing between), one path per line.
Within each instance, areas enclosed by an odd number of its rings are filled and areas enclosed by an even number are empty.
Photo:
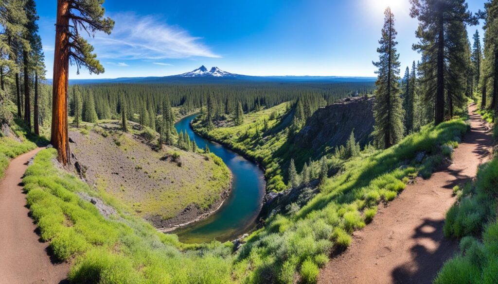
M36 0L52 77L56 0ZM471 11L485 0L468 0ZM71 79L167 76L205 65L256 76L368 76L390 5L402 71L419 55L409 0L106 0L111 35L90 39L106 69ZM481 26L469 27L473 34Z

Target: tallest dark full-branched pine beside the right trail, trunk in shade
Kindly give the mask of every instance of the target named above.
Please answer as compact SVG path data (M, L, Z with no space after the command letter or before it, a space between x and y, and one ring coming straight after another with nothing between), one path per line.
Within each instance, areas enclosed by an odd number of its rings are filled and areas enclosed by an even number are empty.
M445 118L448 89L452 87L457 92L463 84L457 78L458 71L451 70L449 63L467 61L463 30L467 24L476 23L477 19L469 12L465 0L410 0L410 3L411 17L419 20L416 35L420 41L413 45L413 49L422 54L421 83L425 85L426 101L434 103L434 122L438 125ZM454 78L450 80L448 77L452 75ZM448 97L452 95L456 93Z

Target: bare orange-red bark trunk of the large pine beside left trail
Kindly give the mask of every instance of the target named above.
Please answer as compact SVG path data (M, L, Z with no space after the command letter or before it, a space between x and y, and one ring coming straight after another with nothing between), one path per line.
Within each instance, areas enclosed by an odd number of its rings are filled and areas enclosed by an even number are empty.
M69 1L57 0L55 27L54 75L52 86L52 137L57 159L63 165L70 163L67 129L67 94L69 76Z

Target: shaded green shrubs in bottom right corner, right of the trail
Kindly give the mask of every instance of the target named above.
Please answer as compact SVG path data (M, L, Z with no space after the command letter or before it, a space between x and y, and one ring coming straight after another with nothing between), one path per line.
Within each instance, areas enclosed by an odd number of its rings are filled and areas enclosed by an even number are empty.
M498 158L479 168L476 182L446 214L444 233L462 238L434 284L498 283Z

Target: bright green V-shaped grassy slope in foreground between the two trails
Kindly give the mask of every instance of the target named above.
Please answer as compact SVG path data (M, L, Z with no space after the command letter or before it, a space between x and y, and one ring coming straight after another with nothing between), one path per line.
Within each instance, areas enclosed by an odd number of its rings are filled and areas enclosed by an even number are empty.
M430 176L442 153L451 155L442 145L456 146L467 129L463 120L453 120L391 149L362 153L306 206L268 219L235 255L230 243L188 246L157 233L127 214L121 201L55 168L52 149L40 152L24 183L41 237L57 258L74 263L75 283L314 283L331 250L346 248L350 234L372 220L379 202L404 189L408 177ZM429 156L413 162L424 151ZM118 214L104 218L78 191L112 204Z

